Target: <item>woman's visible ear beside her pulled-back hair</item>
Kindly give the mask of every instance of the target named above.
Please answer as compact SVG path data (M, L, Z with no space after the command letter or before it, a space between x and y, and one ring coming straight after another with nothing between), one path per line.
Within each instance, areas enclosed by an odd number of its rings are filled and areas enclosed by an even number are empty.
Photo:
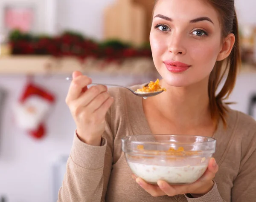
M221 51L218 54L217 61L224 60L230 55L235 41L236 37L234 34L227 35L227 37L224 39L224 43L221 46Z

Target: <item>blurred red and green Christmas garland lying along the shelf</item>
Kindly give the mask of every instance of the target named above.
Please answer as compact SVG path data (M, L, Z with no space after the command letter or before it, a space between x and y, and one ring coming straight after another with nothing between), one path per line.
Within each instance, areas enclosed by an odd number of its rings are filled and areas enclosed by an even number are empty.
M149 44L135 48L118 40L99 43L71 31L66 31L56 37L50 37L35 36L14 30L9 34L9 44L11 53L14 55L74 56L81 60L93 57L106 61L121 61L132 57L152 57Z

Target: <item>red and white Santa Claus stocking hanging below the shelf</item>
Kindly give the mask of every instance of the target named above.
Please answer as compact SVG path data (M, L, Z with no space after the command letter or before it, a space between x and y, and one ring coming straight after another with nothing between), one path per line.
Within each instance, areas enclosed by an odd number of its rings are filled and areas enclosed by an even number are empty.
M44 119L54 101L55 97L47 90L28 83L15 106L17 125L29 131L32 137L42 138L46 133Z

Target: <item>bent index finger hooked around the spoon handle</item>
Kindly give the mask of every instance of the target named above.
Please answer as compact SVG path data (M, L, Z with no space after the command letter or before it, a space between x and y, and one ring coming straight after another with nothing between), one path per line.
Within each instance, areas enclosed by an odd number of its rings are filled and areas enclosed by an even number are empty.
M81 92L87 85L92 83L92 80L83 75L79 75L79 73L73 73L75 78L72 80L70 84L69 91L67 93L66 102L69 103L70 101L76 100L80 95ZM76 77L77 76L77 77Z

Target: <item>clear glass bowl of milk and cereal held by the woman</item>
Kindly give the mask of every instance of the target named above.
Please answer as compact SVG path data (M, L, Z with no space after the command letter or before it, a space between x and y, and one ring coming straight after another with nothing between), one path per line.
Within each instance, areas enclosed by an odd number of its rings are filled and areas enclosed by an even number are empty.
M131 171L150 184L164 180L189 184L206 171L216 139L192 135L138 135L122 138L122 151Z

